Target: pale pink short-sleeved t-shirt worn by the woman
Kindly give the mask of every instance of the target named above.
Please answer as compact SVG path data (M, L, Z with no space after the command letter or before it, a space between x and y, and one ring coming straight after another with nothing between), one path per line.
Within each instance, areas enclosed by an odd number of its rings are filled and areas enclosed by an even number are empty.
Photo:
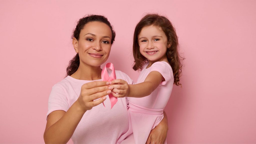
M110 74L111 71L108 71ZM123 79L132 84L132 79L125 73L116 70L116 79ZM101 79L97 80L100 81ZM67 76L52 87L48 101L48 115L55 110L67 111L78 99L81 86L91 80L78 80ZM103 104L93 107L84 113L71 137L73 143L117 143L129 128L126 98L118 98L110 109L110 100L106 96ZM65 127L65 126L63 126Z

